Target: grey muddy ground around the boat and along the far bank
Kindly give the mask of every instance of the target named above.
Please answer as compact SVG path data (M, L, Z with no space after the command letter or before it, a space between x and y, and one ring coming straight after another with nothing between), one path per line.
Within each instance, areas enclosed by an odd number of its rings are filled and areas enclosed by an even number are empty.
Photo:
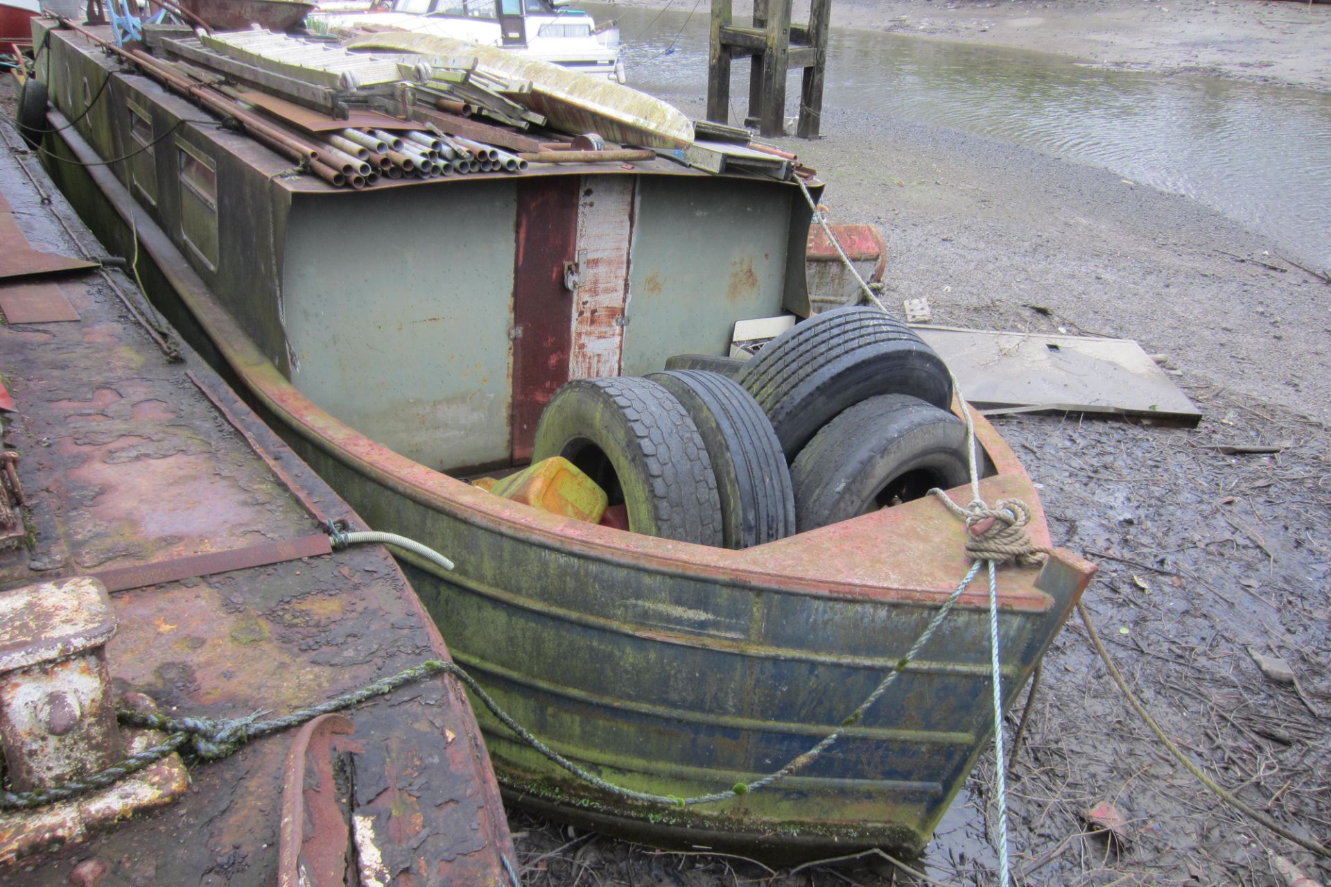
M1195 64L1323 87L1331 67L1331 43L1299 43L1314 28L1327 33L1331 5L845 0L835 9L839 24L862 12L884 29L945 39L1006 35L1044 49L1057 39L1106 64ZM1233 27L1183 48L1166 37L1185 15ZM1290 35L1272 25L1303 17L1315 21L1284 25ZM1114 39L1125 21L1145 29ZM1287 59L1284 37L1323 68L1298 73L1307 59ZM1102 55L1089 52L1102 44ZM1226 45L1239 49L1217 61ZM701 113L700 96L668 97ZM781 144L824 172L835 221L882 228L889 301L928 296L944 324L1123 336L1169 356L1206 412L1195 430L1077 416L998 426L1042 485L1054 539L1099 562L1090 613L1165 729L1247 803L1328 842L1331 285L1275 258L1279 244L1103 170L855 109L825 109L823 132ZM1219 449L1252 444L1278 451ZM1250 651L1283 657L1298 685L1263 677ZM1009 735L1014 727L1016 717ZM994 883L992 776L988 759L918 863L934 882ZM1167 756L1075 619L1046 659L1009 784L1021 884L1287 887L1275 856L1331 880L1326 860L1219 803ZM1125 844L1087 826L1099 800L1127 819ZM916 883L881 859L773 871L571 834L516 811L511 824L530 886Z

